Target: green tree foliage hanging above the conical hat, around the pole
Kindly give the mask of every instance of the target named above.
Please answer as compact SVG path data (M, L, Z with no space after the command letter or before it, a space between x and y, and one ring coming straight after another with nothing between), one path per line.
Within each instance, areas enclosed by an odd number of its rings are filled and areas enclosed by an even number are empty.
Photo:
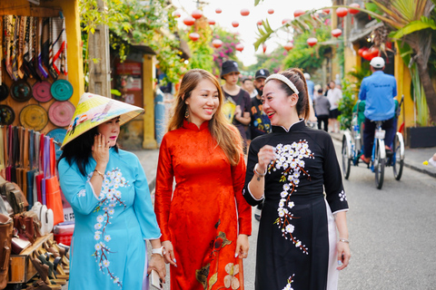
M145 44L156 53L156 59L166 80L178 82L185 71L180 58L180 42L173 7L165 0L154 0L147 4L138 0L103 0L106 9L98 11L96 0L80 0L81 26L84 40L84 73L87 72L87 40L99 24L109 27L113 49L123 61L133 44Z

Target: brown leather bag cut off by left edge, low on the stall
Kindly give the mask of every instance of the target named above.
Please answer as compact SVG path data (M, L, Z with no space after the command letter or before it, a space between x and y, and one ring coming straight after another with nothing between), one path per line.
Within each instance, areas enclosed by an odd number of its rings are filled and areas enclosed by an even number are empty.
M8 280L12 228L12 218L0 214L0 289L5 289Z

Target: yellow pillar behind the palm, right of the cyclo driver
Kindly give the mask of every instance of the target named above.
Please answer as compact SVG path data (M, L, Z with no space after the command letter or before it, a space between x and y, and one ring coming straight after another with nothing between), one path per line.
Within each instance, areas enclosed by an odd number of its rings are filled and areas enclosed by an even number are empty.
M397 45L395 43L395 45ZM396 51L400 50L396 47ZM401 100L401 95L404 94L404 115L405 115L405 127L411 127L414 125L414 117L413 117L413 101L411 99L411 73L407 64L402 62L401 56L399 53L395 54L395 79L397 80L397 92L398 97L397 100ZM399 125L404 121L403 111L401 111L401 115L399 118Z

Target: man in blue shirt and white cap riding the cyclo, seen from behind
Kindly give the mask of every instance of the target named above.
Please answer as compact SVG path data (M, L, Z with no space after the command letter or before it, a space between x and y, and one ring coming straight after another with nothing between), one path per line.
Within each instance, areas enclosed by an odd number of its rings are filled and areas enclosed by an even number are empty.
M372 75L363 79L359 100L365 100L365 129L363 131L363 162L369 164L374 142L375 122L383 121L381 128L386 131L385 144L388 152L391 151L394 136L395 103L397 96L397 81L390 74L383 73L384 60L377 56L370 63Z

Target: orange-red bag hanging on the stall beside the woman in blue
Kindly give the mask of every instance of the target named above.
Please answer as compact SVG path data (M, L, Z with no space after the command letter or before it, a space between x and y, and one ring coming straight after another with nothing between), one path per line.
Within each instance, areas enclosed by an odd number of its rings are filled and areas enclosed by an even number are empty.
M45 154L49 156L47 165L49 178L45 178L45 195L47 200L47 208L53 210L54 225L64 222L64 208L62 206L61 189L59 186L59 179L57 179L55 172L56 152L54 149L54 139L51 138L45 142ZM47 159L45 159L47 160Z

